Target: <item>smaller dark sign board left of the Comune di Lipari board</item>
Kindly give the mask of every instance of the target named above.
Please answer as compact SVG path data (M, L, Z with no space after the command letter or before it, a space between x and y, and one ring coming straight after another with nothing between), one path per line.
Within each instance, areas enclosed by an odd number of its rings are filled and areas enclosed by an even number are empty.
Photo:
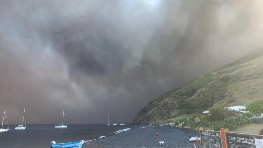
M200 130L200 137L202 148L222 148L220 131Z

